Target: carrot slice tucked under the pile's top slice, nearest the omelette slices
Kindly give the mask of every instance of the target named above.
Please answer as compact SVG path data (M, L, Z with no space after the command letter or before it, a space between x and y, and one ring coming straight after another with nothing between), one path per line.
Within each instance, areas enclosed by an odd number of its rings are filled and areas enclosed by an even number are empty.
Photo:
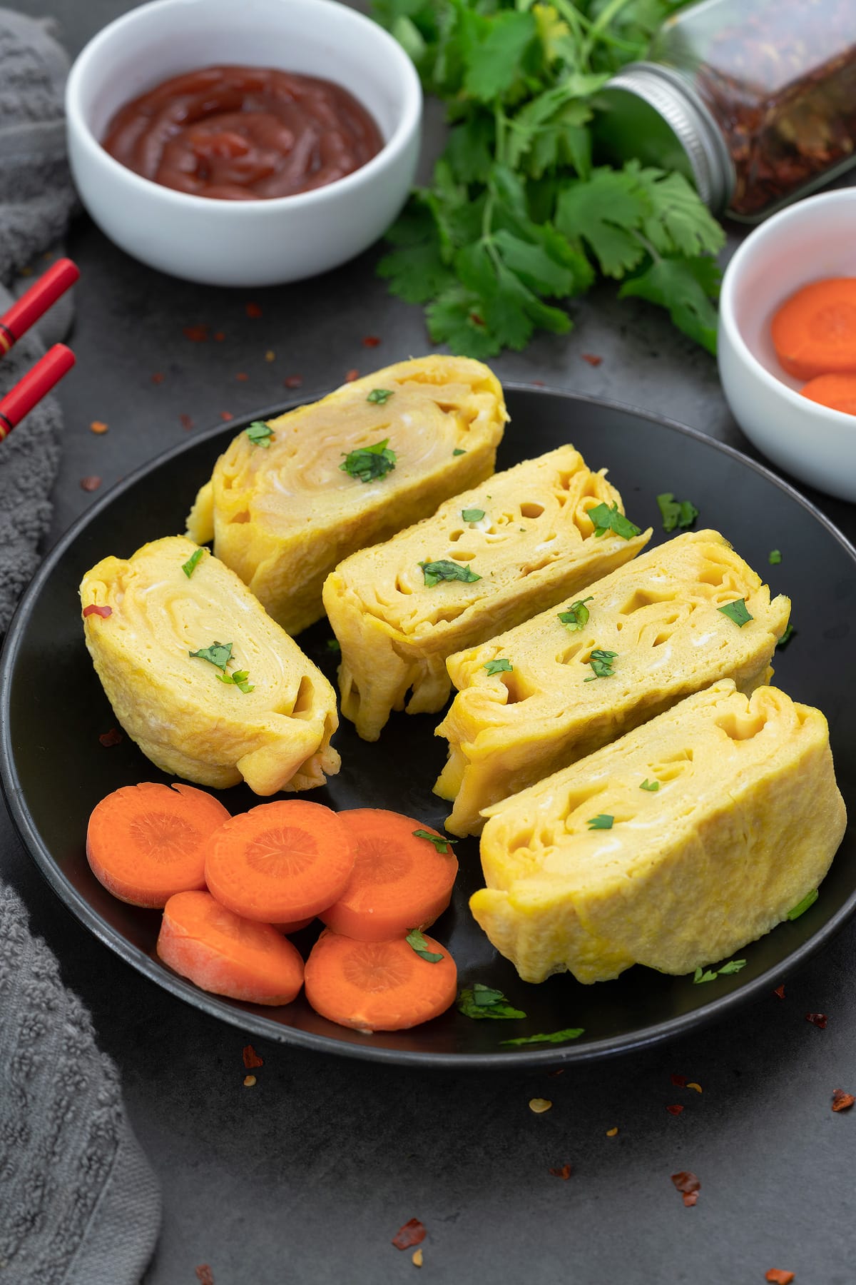
M361 807L339 816L357 860L339 901L321 911L327 928L358 942L382 942L432 924L449 905L458 873L452 842L400 812ZM417 838L417 830L435 835L438 846Z

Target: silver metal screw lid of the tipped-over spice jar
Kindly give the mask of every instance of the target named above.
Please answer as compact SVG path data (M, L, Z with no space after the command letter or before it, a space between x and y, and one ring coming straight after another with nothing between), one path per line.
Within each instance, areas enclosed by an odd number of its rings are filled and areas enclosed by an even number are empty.
M611 112L626 117L629 108L625 95L637 99L631 111L633 132L637 135L633 141L626 136L626 120L620 127L622 137L617 136L617 130L608 130ZM728 207L737 181L734 164L714 116L687 77L660 63L629 63L607 81L598 99L606 108L610 150L625 152L624 158L639 155L647 163L687 170L685 164L675 164L674 155L662 154L656 131L651 128L649 113L639 113L642 100L665 122L680 145L689 162L688 177L693 179L698 195L708 209L719 215ZM647 121L643 118L646 116Z

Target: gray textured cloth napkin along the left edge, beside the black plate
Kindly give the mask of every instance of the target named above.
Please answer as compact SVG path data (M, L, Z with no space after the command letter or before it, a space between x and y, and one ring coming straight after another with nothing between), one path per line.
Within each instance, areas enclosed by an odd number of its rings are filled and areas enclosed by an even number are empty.
M74 204L68 62L49 26L0 9L0 311L47 266ZM64 301L41 335L15 344L0 361L0 394L69 320ZM47 397L0 442L0 635L39 563L60 428ZM21 900L0 882L0 1282L136 1285L159 1223L157 1182L116 1067L49 948L30 933Z

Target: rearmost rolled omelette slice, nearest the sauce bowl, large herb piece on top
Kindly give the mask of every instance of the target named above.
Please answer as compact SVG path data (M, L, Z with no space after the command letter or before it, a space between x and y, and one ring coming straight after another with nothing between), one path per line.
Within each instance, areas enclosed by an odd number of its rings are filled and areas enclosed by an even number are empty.
M323 616L321 589L343 558L493 473L507 419L499 380L480 361L400 361L272 419L255 443L239 433L196 496L187 533L213 540L217 558L298 634ZM380 443L395 457L384 475L343 470L352 451Z

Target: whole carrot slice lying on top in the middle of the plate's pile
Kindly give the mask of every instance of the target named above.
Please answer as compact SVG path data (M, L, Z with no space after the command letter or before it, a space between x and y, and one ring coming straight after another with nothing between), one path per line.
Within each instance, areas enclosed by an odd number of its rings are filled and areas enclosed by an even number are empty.
M332 808L307 799L259 803L212 835L205 883L236 915L293 923L341 897L355 855Z

